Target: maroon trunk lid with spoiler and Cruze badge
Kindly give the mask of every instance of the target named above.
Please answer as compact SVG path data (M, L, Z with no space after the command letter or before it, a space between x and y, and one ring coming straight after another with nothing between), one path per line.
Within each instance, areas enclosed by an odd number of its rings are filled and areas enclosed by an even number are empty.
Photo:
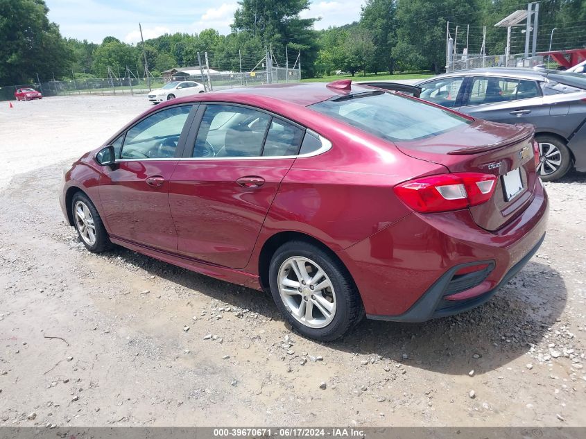
M516 218L531 203L537 181L533 133L530 125L476 119L440 135L394 143L402 153L442 164L450 172L497 175L492 198L469 208L476 224L493 232Z

